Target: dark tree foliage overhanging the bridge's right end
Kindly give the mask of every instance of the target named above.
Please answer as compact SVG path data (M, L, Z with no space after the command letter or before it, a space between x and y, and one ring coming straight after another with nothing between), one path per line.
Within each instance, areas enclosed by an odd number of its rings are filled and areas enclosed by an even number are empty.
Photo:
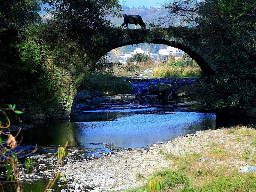
M216 50L219 74L201 84L212 108L249 111L256 98L256 2L254 0L186 0L164 5L171 26L193 26L205 50Z

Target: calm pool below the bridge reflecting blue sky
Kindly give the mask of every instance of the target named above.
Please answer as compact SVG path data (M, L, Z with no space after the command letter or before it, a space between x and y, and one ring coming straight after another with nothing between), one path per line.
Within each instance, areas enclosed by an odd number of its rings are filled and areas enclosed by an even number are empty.
M142 110L134 112L84 113L77 121L36 124L23 131L22 144L90 147L90 143L112 143L123 147L146 146L194 132L214 129L215 114ZM80 120L80 122L78 121Z

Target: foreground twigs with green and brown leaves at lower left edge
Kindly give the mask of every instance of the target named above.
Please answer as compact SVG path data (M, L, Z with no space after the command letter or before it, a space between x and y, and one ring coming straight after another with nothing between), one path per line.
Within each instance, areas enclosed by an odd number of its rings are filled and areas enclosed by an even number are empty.
M29 158L31 154L35 153L38 149L35 146L34 150L28 154L22 154L23 150L19 150L17 147L20 143L17 142L16 137L19 135L18 133L13 136L10 133L10 125L11 121L9 117L6 115L6 111L12 111L16 114L22 114L22 111L18 111L15 109L16 105L8 105L8 108L0 107L0 115L3 116L0 121L0 158L1 163L5 164L6 169L6 180L1 181L0 184L2 186L2 190L4 191L3 185L8 183L13 183L16 192L22 192L22 178L26 177L26 175L31 175L35 172L36 167L38 166L38 162L34 162L33 159ZM3 120L2 120L3 119ZM8 130L9 132L5 132L4 130ZM62 160L65 158L65 148L67 147L68 142L64 147L59 147L55 155L58 156L58 161L56 162L55 170L52 173L51 180L49 181L47 188L51 188L54 182L60 180L62 178L63 181L66 181L63 173L56 172L59 165L62 165ZM25 173L26 171L26 173ZM1 173L3 174L3 172ZM3 176L3 175L1 175ZM46 191L46 189L45 189Z

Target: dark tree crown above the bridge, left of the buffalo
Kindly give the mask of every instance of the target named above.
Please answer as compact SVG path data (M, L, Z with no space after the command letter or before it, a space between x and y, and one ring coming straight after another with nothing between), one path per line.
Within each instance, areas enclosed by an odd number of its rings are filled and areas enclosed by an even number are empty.
M107 16L121 17L122 6L116 0L43 0L54 19L72 32L110 26Z

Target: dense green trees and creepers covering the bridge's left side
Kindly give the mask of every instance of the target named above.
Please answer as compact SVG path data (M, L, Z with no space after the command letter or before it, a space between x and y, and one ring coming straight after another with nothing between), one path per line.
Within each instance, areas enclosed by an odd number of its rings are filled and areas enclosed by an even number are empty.
M67 73L77 79L81 72L107 70L113 65L106 58L95 60L104 55L105 29L112 27L106 16L118 16L121 9L117 0L43 3L54 14L43 23L37 1L13 0L0 5L0 99L4 102L56 106L77 86L75 81L69 86L73 80ZM83 36L81 32L88 29L95 30Z

